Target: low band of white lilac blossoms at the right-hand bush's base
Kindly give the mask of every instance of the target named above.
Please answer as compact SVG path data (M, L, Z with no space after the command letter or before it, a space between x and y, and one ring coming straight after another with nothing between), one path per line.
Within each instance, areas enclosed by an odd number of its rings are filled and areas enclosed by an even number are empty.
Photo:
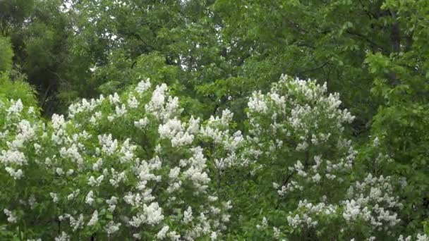
M368 175L363 182L351 185L344 200L335 204L327 204L325 196L322 198L323 202L317 204L307 202L306 199L299 201L296 211L289 212L287 222L291 228L317 229L318 221L326 221L330 216L347 224L341 232L350 229L353 233L355 225L365 223L374 233L382 232L394 237L392 229L401 221L396 210L401 209L402 204L394 196L391 183L389 177L373 178Z

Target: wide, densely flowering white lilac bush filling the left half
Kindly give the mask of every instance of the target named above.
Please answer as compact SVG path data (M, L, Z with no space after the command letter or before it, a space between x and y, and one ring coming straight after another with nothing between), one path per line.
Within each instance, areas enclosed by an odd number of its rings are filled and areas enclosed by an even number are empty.
M230 202L210 188L207 135L231 114L181 119L167 85L73 104L45 125L20 101L1 109L1 232L42 240L216 240ZM228 145L229 156L243 138ZM202 143L202 142L201 142ZM211 147L216 149L216 147ZM219 154L219 156L222 156ZM5 236L6 237L6 236Z

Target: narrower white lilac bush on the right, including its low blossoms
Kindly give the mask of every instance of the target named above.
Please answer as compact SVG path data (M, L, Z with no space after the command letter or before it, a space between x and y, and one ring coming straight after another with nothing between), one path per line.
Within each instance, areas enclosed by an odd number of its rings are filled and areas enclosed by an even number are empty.
M340 105L339 94L327 94L326 83L286 75L267 94L250 97L246 152L253 156L251 172L260 189L271 186L277 192L258 216L262 237L398 238L399 182L359 176L357 152L345 130L354 116Z

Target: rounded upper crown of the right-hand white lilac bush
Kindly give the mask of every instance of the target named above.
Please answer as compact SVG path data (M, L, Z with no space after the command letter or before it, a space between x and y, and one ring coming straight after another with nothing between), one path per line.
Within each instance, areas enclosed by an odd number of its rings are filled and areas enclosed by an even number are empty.
M340 104L339 94L328 95L326 85L286 75L269 93L255 92L250 97L251 136L247 140L262 170L264 159L283 167L279 173L282 183L273 184L280 196L344 182L357 152L344 138L344 124L354 117L339 109Z

